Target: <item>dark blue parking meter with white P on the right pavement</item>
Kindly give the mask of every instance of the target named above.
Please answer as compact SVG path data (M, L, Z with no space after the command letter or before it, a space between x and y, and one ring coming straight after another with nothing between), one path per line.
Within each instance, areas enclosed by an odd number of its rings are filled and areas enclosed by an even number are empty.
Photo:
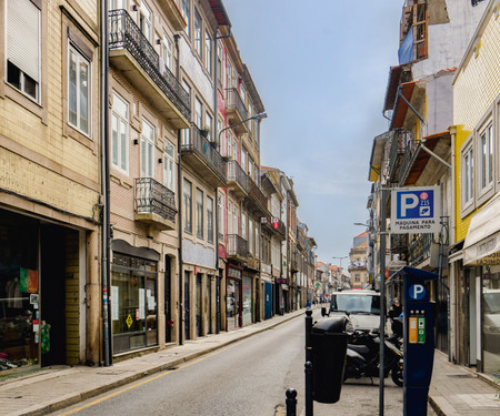
M434 363L433 303L424 283L436 273L404 266L399 271L404 292L403 415L427 415L427 399Z

